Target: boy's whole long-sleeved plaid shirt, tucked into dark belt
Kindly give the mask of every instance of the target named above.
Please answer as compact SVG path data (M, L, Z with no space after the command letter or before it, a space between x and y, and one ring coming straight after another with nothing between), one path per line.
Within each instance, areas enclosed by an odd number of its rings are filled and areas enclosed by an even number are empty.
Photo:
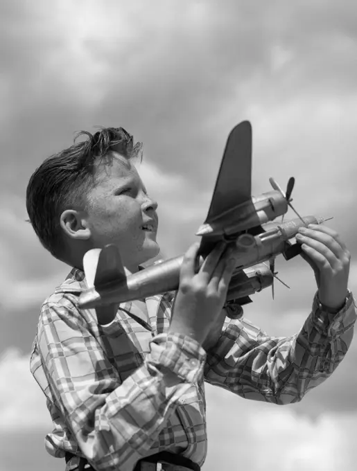
M78 456L98 471L130 471L163 450L202 465L204 380L247 399L299 401L341 362L356 321L351 294L336 315L322 312L315 296L297 335L268 337L243 318L227 318L206 353L189 337L165 333L173 293L146 299L150 331L128 315L140 309L135 302L121 304L112 323L98 325L94 310L78 309L86 288L83 272L73 269L46 299L31 355L53 420L46 450L59 458L77 455L67 471Z

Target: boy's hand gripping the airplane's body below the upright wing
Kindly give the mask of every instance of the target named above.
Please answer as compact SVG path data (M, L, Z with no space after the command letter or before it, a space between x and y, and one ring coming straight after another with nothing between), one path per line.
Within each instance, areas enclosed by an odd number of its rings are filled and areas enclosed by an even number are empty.
M197 271L199 247L195 243L184 256L168 332L188 335L202 346L220 317L236 259L231 248L218 243Z

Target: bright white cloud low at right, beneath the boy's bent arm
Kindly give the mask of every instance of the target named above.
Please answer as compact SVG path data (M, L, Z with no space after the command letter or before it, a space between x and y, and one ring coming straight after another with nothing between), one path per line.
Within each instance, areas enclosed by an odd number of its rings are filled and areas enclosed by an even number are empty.
M356 412L326 411L313 421L297 416L290 406L243 400L207 386L209 454L204 470L353 470L356 418Z

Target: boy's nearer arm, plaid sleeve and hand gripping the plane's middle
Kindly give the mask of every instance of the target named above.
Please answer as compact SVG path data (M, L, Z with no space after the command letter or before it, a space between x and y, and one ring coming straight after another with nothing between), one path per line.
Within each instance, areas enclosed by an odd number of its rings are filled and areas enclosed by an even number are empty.
M235 260L220 244L196 273L198 249L194 244L185 254L168 333L151 341L143 365L123 382L128 359L112 364L101 348L111 325L98 332L64 297L42 308L37 344L46 380L80 451L98 471L129 471L148 456L177 400L202 377L201 345L220 316ZM37 355L32 359L31 371L46 387ZM173 434L166 445L170 440Z

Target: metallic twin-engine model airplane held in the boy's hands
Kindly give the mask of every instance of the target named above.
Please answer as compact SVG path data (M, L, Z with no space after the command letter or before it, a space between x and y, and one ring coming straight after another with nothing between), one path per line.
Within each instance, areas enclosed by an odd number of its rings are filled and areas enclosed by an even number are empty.
M251 174L252 127L243 121L228 136L211 206L196 233L202 237L203 258L220 240L236 245L237 266L227 301L234 299L239 305L252 302L250 294L270 285L273 289L273 279L277 278L274 260L278 254L289 260L301 253L295 240L300 226L324 222L322 217L301 217L295 211L291 204L293 177L286 193L270 178L273 190L253 197ZM272 222L276 217L284 217L289 206L297 214L296 219ZM98 322L107 323L114 319L119 303L177 290L182 260L183 256L171 258L126 276L114 245L90 250L83 259L89 289L80 295L80 308L96 308ZM266 260L269 266L263 264Z

